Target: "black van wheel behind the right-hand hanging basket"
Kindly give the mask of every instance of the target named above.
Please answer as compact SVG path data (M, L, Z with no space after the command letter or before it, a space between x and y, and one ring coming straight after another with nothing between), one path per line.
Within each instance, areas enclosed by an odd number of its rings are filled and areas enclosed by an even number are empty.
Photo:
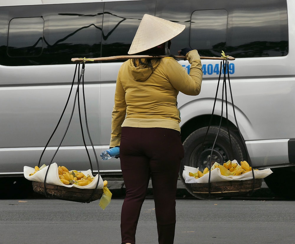
M212 151L212 146L215 140L215 137L218 132L217 126L210 126L209 132L206 136L206 141L203 146L203 150L200 155L201 146L206 135L208 127L203 127L198 130L195 130L191 133L186 140L183 142L184 147L184 158L181 161L181 167L179 170L180 179L183 182L186 190L193 196L199 199L220 199L220 197L212 196L212 194L201 194L193 193L191 184L186 184L182 177L184 166L191 166L198 168L200 171L203 171L204 168L211 166L217 162L223 164L228 160L236 159L238 162L246 160L246 151L242 140L230 131L230 138L232 142L232 148L230 146L229 136L227 128L221 127L216 143L214 145L214 150L212 153L212 159L210 160L210 155ZM198 160L199 155L199 160Z

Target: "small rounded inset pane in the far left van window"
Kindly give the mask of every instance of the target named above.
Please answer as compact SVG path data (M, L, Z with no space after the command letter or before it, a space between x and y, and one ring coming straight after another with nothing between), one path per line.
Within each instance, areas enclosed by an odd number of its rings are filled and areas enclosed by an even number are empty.
M42 53L44 20L41 17L14 18L9 22L7 54L34 57Z

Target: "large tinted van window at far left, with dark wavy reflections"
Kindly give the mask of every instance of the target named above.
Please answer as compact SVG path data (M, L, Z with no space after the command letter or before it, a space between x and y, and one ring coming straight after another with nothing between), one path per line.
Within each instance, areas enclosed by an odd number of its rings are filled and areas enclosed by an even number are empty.
M103 6L86 3L0 8L1 24L9 22L8 32L1 32L5 38L0 38L0 64L70 64L71 58L100 57Z

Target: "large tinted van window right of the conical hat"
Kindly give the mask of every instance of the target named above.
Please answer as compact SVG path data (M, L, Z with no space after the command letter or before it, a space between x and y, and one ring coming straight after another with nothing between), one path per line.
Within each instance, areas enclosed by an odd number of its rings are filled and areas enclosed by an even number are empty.
M172 40L174 55L188 46L202 56L219 57L224 50L235 58L289 51L286 0L163 0L157 2L156 16L186 25Z

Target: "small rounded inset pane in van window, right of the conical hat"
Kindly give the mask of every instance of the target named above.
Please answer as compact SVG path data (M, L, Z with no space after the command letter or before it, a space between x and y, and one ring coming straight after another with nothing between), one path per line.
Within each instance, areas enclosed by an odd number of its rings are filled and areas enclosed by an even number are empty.
M208 18L209 17L209 18ZM197 10L191 15L190 45L198 50L225 45L227 11L225 9Z

